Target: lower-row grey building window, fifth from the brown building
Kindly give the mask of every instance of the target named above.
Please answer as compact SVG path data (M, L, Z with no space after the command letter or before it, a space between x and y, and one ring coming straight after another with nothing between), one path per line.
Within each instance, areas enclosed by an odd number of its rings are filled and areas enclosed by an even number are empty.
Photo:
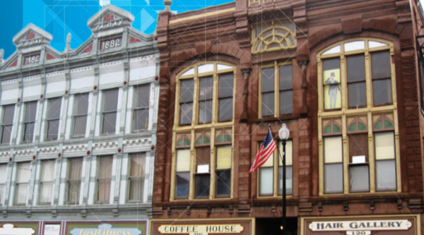
M30 162L18 163L18 177L16 178L15 205L25 205L28 183L31 179Z

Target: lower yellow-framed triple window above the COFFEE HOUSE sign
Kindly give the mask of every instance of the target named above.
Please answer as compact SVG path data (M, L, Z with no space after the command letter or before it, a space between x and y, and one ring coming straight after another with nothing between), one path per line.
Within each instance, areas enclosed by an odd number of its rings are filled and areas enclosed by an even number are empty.
M172 198L231 198L231 129L218 129L214 133L208 129L177 133L175 139L175 192Z

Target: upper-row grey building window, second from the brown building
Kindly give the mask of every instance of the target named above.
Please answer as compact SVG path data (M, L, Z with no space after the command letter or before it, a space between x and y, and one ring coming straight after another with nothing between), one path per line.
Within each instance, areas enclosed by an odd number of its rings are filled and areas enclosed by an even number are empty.
M117 123L118 89L103 92L102 134L114 134Z

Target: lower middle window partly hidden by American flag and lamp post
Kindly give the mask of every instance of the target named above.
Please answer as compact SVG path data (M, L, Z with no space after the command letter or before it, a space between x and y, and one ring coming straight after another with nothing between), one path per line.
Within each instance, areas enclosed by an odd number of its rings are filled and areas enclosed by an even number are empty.
M258 143L258 150L261 143ZM276 197L283 195L283 143L278 141L278 150L259 167L258 195L259 197ZM293 140L285 143L285 193L293 195Z

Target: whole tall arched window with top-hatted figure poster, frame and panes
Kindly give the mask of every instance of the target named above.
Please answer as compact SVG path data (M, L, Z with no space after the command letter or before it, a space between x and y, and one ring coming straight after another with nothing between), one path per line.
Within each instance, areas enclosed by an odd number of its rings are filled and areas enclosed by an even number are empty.
M393 56L373 38L318 52L319 195L400 191Z

